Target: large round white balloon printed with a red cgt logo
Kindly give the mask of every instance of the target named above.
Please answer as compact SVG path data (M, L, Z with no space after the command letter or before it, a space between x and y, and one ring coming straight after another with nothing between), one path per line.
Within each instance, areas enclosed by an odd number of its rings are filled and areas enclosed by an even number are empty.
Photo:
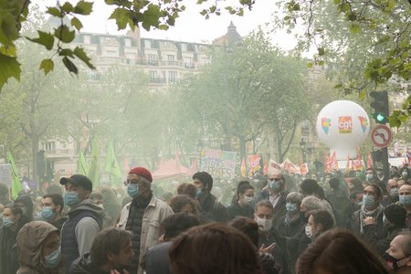
M368 137L370 120L367 112L351 100L334 100L317 116L317 134L326 146L335 151L337 160L356 156L356 148Z

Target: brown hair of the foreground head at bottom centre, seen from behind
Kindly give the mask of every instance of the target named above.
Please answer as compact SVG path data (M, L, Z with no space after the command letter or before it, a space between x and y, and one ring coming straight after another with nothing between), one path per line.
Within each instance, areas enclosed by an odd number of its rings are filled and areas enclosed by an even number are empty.
M170 248L173 273L262 274L257 248L234 227L211 223L176 237Z

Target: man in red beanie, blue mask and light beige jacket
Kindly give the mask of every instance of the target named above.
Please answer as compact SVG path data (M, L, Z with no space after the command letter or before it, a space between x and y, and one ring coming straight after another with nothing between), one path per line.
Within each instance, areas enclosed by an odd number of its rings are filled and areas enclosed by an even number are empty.
M132 232L132 258L130 273L143 273L141 263L144 252L158 244L162 235L160 225L173 210L152 191L152 174L143 167L133 168L127 175L127 193L132 202L121 209L117 227Z

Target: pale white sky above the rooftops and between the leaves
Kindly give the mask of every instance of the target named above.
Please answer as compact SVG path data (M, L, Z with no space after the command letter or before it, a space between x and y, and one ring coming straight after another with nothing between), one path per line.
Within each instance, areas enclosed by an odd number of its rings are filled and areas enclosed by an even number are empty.
M47 6L56 5L57 0L34 0L32 3L40 5L46 9ZM64 3L65 0L60 0L60 3ZM77 3L76 0L69 0L71 3ZM227 1L229 3L237 3L236 1ZM203 42L211 43L215 38L221 37L227 33L227 26L230 21L233 21L237 26L237 32L241 36L248 35L258 26L264 28L265 24L270 21L270 17L275 9L274 1L258 0L253 6L251 11L246 10L244 16L231 16L226 10L222 9L221 16L210 16L205 20L204 16L199 14L202 9L201 6L195 5L195 0L184 1L186 10L181 13L177 18L175 26L171 26L170 29L163 30L150 30L149 32L144 29L141 30L142 37L162 38L177 41L186 42ZM114 20L108 20L111 15L114 6L104 4L104 0L95 0L93 5L93 12L90 16L81 16L80 20L83 24L84 32L93 33L109 33L109 34L124 34L125 31L118 31ZM273 35L272 40L279 47L284 49L291 49L295 46L295 40L288 36L285 31L279 34Z

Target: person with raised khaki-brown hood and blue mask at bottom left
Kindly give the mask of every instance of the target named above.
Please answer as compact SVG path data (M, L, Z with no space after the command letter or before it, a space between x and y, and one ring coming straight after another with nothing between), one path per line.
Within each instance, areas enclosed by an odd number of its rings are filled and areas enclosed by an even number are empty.
M16 274L64 273L58 229L44 221L27 223L17 235L18 261Z

